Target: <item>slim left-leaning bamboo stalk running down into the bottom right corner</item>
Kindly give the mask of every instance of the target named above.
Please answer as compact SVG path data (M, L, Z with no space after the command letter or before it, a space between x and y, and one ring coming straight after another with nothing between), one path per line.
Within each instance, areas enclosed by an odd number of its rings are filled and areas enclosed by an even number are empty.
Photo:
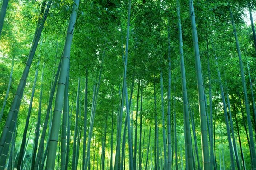
M233 13L229 6L230 10L230 17L232 21L233 26L233 33L236 40L236 49L239 57L239 65L240 65L240 72L241 72L241 79L242 79L242 86L243 86L243 92L244 92L244 101L245 101L245 108L246 108L246 115L247 115L247 124L248 124L248 130L249 130L249 137L250 137L250 148L251 148L251 156L252 156L252 169L256 170L256 152L255 152L255 144L253 140L253 127L252 127L252 121L250 118L250 106L248 102L248 96L247 96L247 88L246 88L246 82L245 82L245 76L244 76L244 67L243 67L243 61L242 61L242 55L240 51L239 41L236 34L236 25L233 19Z

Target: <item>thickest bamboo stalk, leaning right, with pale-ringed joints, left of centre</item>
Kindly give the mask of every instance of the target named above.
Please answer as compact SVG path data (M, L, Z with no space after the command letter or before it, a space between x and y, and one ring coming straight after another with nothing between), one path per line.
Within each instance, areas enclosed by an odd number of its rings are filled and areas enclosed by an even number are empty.
M70 21L67 29L67 36L64 45L63 55L61 59L61 70L58 81L58 88L55 99L55 107L52 118L51 135L49 138L49 148L47 152L46 170L53 170L55 164L56 150L58 145L58 133L61 125L61 110L63 107L64 90L67 78L67 70L69 68L70 50L73 39L74 24L76 23L77 9L80 0L75 0L70 15Z

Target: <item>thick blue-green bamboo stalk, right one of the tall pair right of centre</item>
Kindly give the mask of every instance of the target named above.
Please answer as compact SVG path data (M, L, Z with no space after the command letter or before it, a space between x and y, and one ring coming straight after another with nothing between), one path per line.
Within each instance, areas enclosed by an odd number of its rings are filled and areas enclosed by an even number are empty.
M203 78L202 78L202 69L201 69L193 0L189 0L189 12L190 12L190 20L191 20L191 26L192 26L192 37L193 37L195 63L196 63L195 65L196 77L197 77L197 85L198 85L198 102L199 102L199 114L200 114L200 124L201 124L200 127L201 127L203 169L209 170L210 160L209 160L209 147L208 147L208 139L207 139L206 110L205 110L205 104L204 104L204 85L203 85Z

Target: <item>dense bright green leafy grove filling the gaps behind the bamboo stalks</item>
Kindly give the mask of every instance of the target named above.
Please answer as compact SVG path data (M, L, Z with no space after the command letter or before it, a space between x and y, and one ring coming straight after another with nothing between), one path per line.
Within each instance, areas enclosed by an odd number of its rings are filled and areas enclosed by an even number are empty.
M12 84L4 109L3 118L0 122L0 131L5 124L7 113L12 103L12 99L17 90L21 74L26 64L27 56L33 40L36 23L40 11L41 0L10 0L6 12L3 30L0 39L0 105L2 105L6 95L6 89L9 82L9 74L12 67L12 58L14 57L14 68L12 75ZM29 77L26 82L20 111L17 121L17 135L14 147L14 153L19 155L20 144L23 137L24 125L26 122L32 85L35 76L35 69L38 61L38 79L35 87L35 97L32 105L32 114L29 122L31 135L28 140L28 147L25 155L24 164L29 164L32 158L34 144L35 127L38 117L38 105L40 95L40 85L43 83L42 95L42 114L41 127L44 123L44 116L49 100L51 82L55 78L59 60L64 47L67 25L72 10L72 0L55 0L49 10L43 33L41 35L35 57L29 71ZM252 11L255 11L256 2L250 2ZM224 118L223 103L221 100L220 84L217 75L217 68L221 73L222 84L225 94L229 92L231 113L233 118L234 133L236 137L236 146L239 153L240 166L241 150L237 135L236 123L239 127L241 144L246 163L246 169L250 169L251 160L244 125L247 125L246 119L243 119L241 112L245 113L244 96L241 85L241 75L239 68L239 59L237 57L236 44L231 25L230 11L228 5L233 10L236 31L241 47L242 59L244 62L244 73L246 76L247 93L249 97L250 113L253 122L253 133L256 135L256 122L253 114L253 101L248 77L247 62L250 66L250 77L253 92L255 90L256 77L256 54L253 43L252 29L250 26L248 14L248 4L246 0L195 0L195 17L198 31L198 43L200 48L201 66L204 81L205 94L207 99L207 114L209 114L209 67L211 70L211 88L213 101L213 126L214 126L214 150L218 169L230 169L230 153L227 141L227 130ZM195 132L198 145L198 153L202 167L201 158L201 130L198 110L198 89L195 71L195 57L192 41L192 30L189 14L189 1L180 2L181 25L183 31L183 50L186 71L186 83L188 100L190 104L189 113L193 114L190 121L194 119ZM73 134L76 113L76 95L78 79L81 79L80 102L79 104L79 123L78 126L83 130L89 130L90 113L93 99L93 87L99 76L99 69L102 68L102 79L99 87L99 95L96 106L96 116L93 127L93 138L91 144L91 169L99 169L101 164L102 142L106 142L105 151L105 169L109 168L110 148L111 148L111 124L112 124L112 102L113 102L113 151L116 148L116 129L117 116L120 109L120 91L122 93L123 79L123 61L125 55L125 40L128 14L128 0L81 0L79 4L78 17L74 29L74 37L70 54L70 78L69 78L69 113L70 113L70 158L68 169L71 169ZM168 23L169 18L169 23ZM256 18L254 18L256 19ZM169 24L169 30L168 30ZM135 128L137 126L137 143L139 136L145 130L143 138L144 146L142 167L145 168L146 153L148 150L149 129L151 127L151 141L149 147L148 168L153 169L154 154L156 144L155 138L155 114L157 115L158 140L160 148L160 169L163 169L163 133L162 133L162 112L161 112L161 88L160 88L160 70L163 71L163 96L164 96L164 114L165 129L167 131L167 88L168 88L168 31L170 33L171 47L171 129L172 129L172 150L173 165L175 168L175 148L174 148L174 124L177 128L177 153L179 169L185 169L185 144L184 144L184 120L183 120L183 96L180 73L180 54L177 28L176 1L174 0L131 0L131 20L130 20L130 38L128 48L128 68L127 68L127 87L128 95L131 93L131 86L134 79L134 90L131 102L131 130L133 144L136 144ZM209 43L209 48L207 48ZM104 62L101 67L102 58ZM217 57L217 60L215 59ZM218 61L218 65L217 62ZM41 79L41 72L44 65L44 80ZM87 129L83 128L84 122L84 94L85 94L85 76L88 69L88 114ZM157 110L154 110L154 77L156 85ZM143 110L137 113L136 120L136 101L137 88L140 82L140 90L143 90ZM141 91L140 91L141 92ZM113 93L113 97L112 97ZM140 94L139 94L140 96ZM241 106L239 103L241 98ZM227 96L225 96L227 97ZM227 99L227 98L226 98ZM55 97L54 97L55 100ZM175 102L174 102L175 101ZM53 101L53 105L54 105ZM125 108L124 108L125 109ZM52 111L53 112L53 111ZM123 124L125 122L125 113ZM176 121L174 121L176 113ZM142 124L140 125L140 114L142 114ZM237 115L237 119L235 118ZM52 113L51 113L52 115ZM191 116L190 115L190 116ZM52 118L52 116L50 116ZM106 125L106 133L105 133ZM142 134L139 128L142 126ZM122 125L122 128L124 125ZM29 133L29 132L28 132ZM79 132L80 133L80 132ZM61 130L60 130L61 139ZM122 129L123 134L123 129ZM167 132L166 132L167 134ZM195 142L192 133L193 153ZM106 136L105 136L106 135ZM27 135L28 136L28 135ZM48 138L48 130L47 136ZM104 139L106 138L106 139ZM81 136L81 141L83 136ZM122 137L121 137L122 139ZM128 139L128 137L126 137ZM208 139L209 141L209 139ZM255 139L254 139L255 141ZM47 142L47 141L45 141ZM138 145L138 144L137 144ZM234 145L234 144L233 144ZM121 144L122 146L122 144ZM210 146L210 144L209 144ZM79 169L82 165L82 142L79 150ZM137 148L138 149L138 148ZM126 142L126 164L128 165L128 142ZM57 150L55 169L59 165ZM115 153L114 153L115 154ZM138 157L138 156L137 156ZM17 156L18 158L18 156ZM113 156L114 159L114 156ZM138 162L137 162L138 163ZM17 166L17 160L15 161ZM198 167L196 163L196 167Z

